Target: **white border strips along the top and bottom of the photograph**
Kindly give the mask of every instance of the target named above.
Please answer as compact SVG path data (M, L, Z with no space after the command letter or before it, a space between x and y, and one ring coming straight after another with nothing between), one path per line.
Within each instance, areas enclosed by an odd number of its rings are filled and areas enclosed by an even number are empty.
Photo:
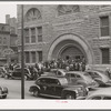
M3 0L0 0L0 2L2 2ZM30 2L30 0L4 0L6 3L7 2L21 2L21 3L24 3L24 2ZM3 1L3 2L4 2ZM40 1L40 2L47 2L48 1L57 1L57 2L64 2L67 0L31 0L31 1ZM99 2L100 3L104 3L107 1L110 1L110 0L69 0L67 2L82 2L83 1L91 1L91 2ZM103 2L101 2L103 1ZM75 3L74 2L74 3ZM91 3L89 2L89 3ZM109 2L107 2L109 4ZM111 3L111 2L110 2ZM34 103L36 102L36 103ZM32 104L33 103L33 104ZM85 100L0 100L0 110L1 111L109 111L111 109L111 101L85 101ZM37 105L39 104L39 105ZM31 105L31 107L29 107ZM50 105L50 107L48 107ZM81 107L80 107L81 105ZM20 110L19 110L20 109ZM37 110L37 109L40 109L40 110ZM54 109L54 110L53 110ZM104 110L103 110L104 109Z

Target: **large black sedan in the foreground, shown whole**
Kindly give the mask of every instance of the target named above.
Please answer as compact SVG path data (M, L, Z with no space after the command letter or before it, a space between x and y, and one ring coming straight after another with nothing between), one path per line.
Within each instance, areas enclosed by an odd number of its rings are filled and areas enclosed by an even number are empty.
M44 95L61 99L77 99L85 97L89 92L83 85L69 83L64 77L40 77L29 91L34 97Z

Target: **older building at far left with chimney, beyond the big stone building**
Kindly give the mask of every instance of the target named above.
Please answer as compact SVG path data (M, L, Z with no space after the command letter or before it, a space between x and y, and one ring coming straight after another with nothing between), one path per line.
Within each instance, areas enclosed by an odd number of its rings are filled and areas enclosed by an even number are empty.
M9 62L8 56L6 54L7 49L11 49L14 54L10 54L10 60L17 60L18 47L17 42L17 23L14 19L11 19L10 16L6 16L6 23L0 23L0 65ZM12 29L14 30L12 32Z

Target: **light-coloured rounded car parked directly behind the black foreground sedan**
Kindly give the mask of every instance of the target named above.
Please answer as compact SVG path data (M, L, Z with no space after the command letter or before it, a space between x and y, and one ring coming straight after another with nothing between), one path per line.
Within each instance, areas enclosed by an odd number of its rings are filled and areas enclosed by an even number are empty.
M69 71L65 73L65 78L69 82L73 82L74 84L83 84L89 89L99 87L98 82L95 82L87 72Z

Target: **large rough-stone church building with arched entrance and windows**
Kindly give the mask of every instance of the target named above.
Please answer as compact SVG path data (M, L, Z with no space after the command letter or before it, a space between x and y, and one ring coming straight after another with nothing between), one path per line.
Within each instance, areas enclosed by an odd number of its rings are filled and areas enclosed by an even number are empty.
M111 6L24 4L26 63L82 59L90 65L111 63ZM18 6L19 60L21 6Z

